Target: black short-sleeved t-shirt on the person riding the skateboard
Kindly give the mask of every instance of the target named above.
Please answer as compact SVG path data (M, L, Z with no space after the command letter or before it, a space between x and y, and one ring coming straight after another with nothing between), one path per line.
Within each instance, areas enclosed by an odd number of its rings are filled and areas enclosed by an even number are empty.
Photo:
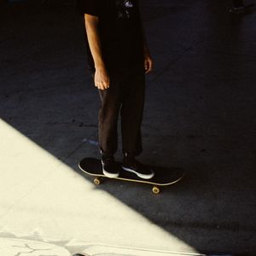
M102 55L108 69L143 68L143 32L139 0L77 0L79 14L99 17ZM94 61L86 38L88 61Z

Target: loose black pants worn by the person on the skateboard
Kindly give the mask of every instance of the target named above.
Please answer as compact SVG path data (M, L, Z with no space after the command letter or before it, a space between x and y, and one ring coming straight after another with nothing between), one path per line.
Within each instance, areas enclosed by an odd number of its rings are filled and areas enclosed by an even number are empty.
M99 147L103 155L113 155L118 148L118 119L121 117L123 153L137 156L143 151L145 74L142 68L110 72L110 86L99 90Z

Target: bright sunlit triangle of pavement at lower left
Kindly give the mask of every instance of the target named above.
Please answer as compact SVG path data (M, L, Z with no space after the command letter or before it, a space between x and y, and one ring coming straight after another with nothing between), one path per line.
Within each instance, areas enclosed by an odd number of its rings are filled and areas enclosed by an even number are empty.
M180 251L195 251L112 195L96 189L72 168L56 160L19 131L3 121L0 126L3 146L0 216L3 234L67 241L65 246L68 247L87 246L101 241L107 245L159 249L170 244L171 248ZM29 241L14 239L0 242L8 245L7 252L5 246L2 249L3 253L9 255L15 255L12 254L14 250L19 251L19 244L20 247L21 244L30 245ZM28 249L40 248L40 252L34 253L44 253L43 250L47 248L42 243L31 243ZM13 244L15 249L9 252ZM53 250L59 252L57 255L64 253L64 249L59 247ZM35 255L54 255L52 253Z

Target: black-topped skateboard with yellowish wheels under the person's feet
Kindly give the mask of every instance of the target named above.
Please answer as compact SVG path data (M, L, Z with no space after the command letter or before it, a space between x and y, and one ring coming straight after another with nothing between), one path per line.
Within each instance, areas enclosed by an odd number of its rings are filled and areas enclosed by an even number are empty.
M160 193L160 188L170 186L174 183L179 182L183 176L183 169L177 167L163 167L163 166L148 166L152 171L154 171L154 177L151 179L143 179L141 177L137 177L135 173L125 172L121 168L121 163L118 163L119 166L119 177L111 177L111 179L118 179L127 182L135 182L135 183L145 183L152 185L152 192L157 195ZM100 185L104 178L106 177L102 173L102 163L100 160L95 158L84 158L79 162L79 169L90 175L95 177L94 183L96 185Z

